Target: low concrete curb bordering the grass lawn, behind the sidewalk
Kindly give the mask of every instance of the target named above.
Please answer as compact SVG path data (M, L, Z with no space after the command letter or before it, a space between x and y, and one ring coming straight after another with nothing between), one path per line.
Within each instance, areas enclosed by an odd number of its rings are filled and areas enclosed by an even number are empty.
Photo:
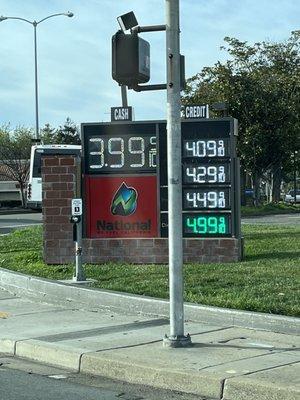
M82 309L112 309L116 311L168 317L169 302L146 296L67 285L0 268L0 287L15 295L39 299ZM185 303L185 318L212 325L238 326L272 332L299 335L300 319L227 308Z

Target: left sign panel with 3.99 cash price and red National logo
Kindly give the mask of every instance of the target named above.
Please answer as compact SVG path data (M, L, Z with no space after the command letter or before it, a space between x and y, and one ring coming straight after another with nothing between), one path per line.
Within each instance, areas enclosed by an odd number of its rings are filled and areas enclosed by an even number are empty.
M159 236L157 124L83 124L86 235Z

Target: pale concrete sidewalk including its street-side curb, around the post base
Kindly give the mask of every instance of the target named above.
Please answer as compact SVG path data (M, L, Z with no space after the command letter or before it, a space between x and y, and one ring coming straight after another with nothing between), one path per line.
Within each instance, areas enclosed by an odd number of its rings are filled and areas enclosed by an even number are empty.
M168 349L168 332L166 318L137 309L80 310L71 299L51 305L0 290L2 353L209 399L299 400L299 336L188 321L193 346Z

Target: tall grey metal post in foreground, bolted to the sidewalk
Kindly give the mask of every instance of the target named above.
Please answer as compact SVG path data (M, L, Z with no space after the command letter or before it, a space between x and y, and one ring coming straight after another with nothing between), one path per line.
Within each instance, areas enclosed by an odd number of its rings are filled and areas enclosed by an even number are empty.
M183 316L179 0L166 0L166 40L170 336L163 344L182 347L191 339Z

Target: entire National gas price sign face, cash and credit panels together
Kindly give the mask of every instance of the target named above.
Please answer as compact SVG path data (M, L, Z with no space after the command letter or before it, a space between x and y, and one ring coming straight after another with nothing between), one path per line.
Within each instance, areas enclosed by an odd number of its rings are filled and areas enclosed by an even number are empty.
M183 237L240 237L233 118L182 120ZM167 237L165 121L83 124L88 237Z

